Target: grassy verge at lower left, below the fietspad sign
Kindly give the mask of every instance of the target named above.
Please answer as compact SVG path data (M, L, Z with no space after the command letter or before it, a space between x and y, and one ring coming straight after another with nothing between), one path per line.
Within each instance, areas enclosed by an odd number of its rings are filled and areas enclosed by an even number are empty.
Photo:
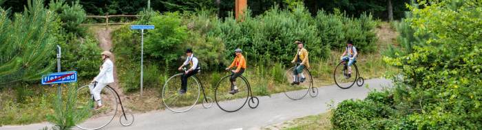
M83 86L87 81L77 83ZM62 84L62 99L67 99L68 84ZM28 125L46 121L47 114L52 113L52 103L58 101L54 98L59 94L57 85L32 84L14 88L16 89L5 89L0 92L0 126Z

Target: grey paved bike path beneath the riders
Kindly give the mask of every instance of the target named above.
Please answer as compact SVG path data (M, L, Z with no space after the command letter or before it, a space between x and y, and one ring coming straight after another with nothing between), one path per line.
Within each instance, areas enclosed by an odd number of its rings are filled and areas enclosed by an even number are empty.
M381 90L381 86L391 85L388 79L369 79L365 81L369 88ZM284 93L259 96L260 105L251 109L244 105L238 112L224 112L213 103L209 109L202 105L196 105L184 113L174 113L169 110L148 112L145 114L134 114L134 123L129 127L123 127L118 116L103 129L260 129L267 125L278 122L285 122L304 116L328 112L326 103L331 99L335 105L346 99L364 99L370 90L362 87L352 86L348 89L338 88L336 85L318 88L319 94L311 97L307 94L303 99L293 101L288 99ZM214 97L211 97L214 99ZM41 129L51 127L50 124L34 124L27 126L5 126L3 129Z

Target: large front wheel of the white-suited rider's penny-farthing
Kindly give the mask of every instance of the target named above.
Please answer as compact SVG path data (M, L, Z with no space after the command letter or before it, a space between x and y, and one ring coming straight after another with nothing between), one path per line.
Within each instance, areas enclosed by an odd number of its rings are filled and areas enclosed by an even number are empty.
M90 106L92 107L90 110L90 118L87 118L85 122L76 125L80 129L101 129L109 124L109 122L114 119L114 116L116 116L117 98L114 95L114 92L107 86L101 90L101 101L104 107L98 111L94 111L97 102L92 99L92 94L90 93L88 85L78 88L76 98L76 105L79 107L85 106L88 103L92 104L92 106Z

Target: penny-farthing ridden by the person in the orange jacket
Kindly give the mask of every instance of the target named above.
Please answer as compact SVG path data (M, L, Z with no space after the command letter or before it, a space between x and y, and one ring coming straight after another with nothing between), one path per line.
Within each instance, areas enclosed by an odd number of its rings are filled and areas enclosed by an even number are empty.
M251 92L251 86L249 85L246 77L240 75L238 81L236 81L236 86L238 88L238 93L229 94L229 91L233 90L233 83L229 80L231 76L234 75L233 70L229 69L230 75L223 77L216 86L214 99L216 104L224 110L225 112L236 112L244 105L249 99L248 105L251 108L256 108L260 104L258 97L253 96ZM251 97L249 95L251 94Z

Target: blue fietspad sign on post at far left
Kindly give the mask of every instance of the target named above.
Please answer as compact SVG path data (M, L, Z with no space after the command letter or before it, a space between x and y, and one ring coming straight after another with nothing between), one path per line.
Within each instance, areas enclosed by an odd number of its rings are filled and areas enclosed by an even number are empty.
M63 72L63 73L50 73L48 75L42 75L42 85L56 84L56 83L70 83L77 81L77 72Z

